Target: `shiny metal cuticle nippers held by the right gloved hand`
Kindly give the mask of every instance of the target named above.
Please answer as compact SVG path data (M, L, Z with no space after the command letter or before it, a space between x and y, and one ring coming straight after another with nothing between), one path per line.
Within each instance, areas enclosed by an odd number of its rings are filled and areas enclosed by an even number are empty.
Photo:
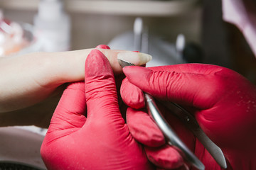
M124 60L119 60L119 64L122 67L126 66L134 66L134 64L130 62L126 62ZM181 152L181 155L186 159L186 161L190 162L193 166L197 169L205 169L203 163L186 147L186 145L181 141L181 139L176 135L176 132L172 130L171 126L167 121L164 119L164 116L161 115L159 108L156 106L154 102L154 98L144 93L145 101L146 101L146 108L148 109L149 115L155 121L156 125L160 128L161 132L163 132L164 136L166 137L167 143L171 146L175 146L178 148L178 151ZM225 162L225 157L221 149L213 143L210 138L203 132L203 130L198 125L196 118L188 113L185 109L181 106L178 106L176 103L171 103L168 101L161 101L161 103L169 108L169 110L174 113L178 118L188 127L188 129L193 132L198 140L202 143L202 145L208 150L208 152L213 156L215 161L224 169L227 168L227 164Z

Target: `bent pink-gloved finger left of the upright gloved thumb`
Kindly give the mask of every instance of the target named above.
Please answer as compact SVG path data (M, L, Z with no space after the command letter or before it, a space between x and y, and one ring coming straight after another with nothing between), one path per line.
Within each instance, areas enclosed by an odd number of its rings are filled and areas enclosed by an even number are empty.
M71 83L63 92L48 131L81 128L85 124L85 84Z

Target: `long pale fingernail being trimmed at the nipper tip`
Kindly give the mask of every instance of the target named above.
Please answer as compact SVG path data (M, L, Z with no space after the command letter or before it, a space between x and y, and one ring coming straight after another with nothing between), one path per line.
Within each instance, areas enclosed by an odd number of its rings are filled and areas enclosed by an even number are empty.
M142 65L152 60L152 56L142 52L119 52L117 59L131 62L135 65Z

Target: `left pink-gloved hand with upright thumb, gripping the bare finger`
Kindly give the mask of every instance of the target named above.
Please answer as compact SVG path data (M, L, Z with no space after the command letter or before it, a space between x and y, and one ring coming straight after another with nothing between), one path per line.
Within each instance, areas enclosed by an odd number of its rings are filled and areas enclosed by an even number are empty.
M76 82L64 91L41 156L54 170L152 169L124 123L110 62L99 50L87 57L85 84Z

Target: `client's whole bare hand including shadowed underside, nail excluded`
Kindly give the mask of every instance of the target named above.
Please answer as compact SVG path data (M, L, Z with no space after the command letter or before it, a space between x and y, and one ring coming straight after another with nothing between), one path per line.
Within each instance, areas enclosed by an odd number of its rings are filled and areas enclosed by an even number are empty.
M0 57L0 126L47 127L65 83L84 80L85 60L91 50ZM124 51L97 50L110 61L115 75L122 73L117 54Z

